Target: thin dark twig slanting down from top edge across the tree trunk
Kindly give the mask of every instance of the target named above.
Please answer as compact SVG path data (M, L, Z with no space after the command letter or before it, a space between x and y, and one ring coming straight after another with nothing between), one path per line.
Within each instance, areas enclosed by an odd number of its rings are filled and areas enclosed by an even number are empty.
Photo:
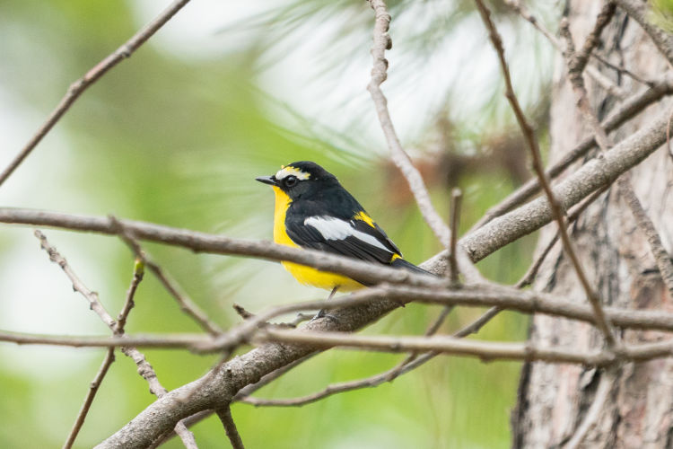
M577 277L580 279L581 286L587 295L587 299L589 299L591 307L593 308L593 311L596 315L596 325L603 334L603 337L606 339L607 344L612 347L616 344L616 339L612 333L610 321L608 321L607 317L605 316L602 305L600 304L599 295L590 285L589 279L584 273L584 269L581 267L581 262L577 257L576 252L574 251L572 241L570 240L570 236L568 235L568 230L564 221L564 207L556 198L555 193L549 184L549 180L546 177L545 168L542 163L542 156L540 155L538 140L535 138L535 132L530 126L528 119L526 119L526 116L520 107L519 100L517 99L514 89L512 88L510 70L504 57L503 40L501 39L500 34L498 34L498 31L495 29L494 22L491 20L491 12L485 6L484 2L482 0L475 0L475 3L481 18L485 23L486 29L489 31L489 37L494 45L495 52L498 55L505 82L505 96L507 97L507 100L510 101L511 109L514 111L514 115L519 122L521 132L523 133L523 136L529 145L530 154L533 159L533 169L538 175L538 180L545 192L547 201L551 207L552 215L554 216L555 222L558 225L561 242L564 244L564 251L572 261L572 266L575 269Z

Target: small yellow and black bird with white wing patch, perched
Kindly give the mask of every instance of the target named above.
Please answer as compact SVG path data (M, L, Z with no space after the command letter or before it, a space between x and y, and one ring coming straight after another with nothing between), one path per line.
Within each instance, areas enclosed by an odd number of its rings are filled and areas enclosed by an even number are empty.
M291 163L257 180L275 191L274 242L430 274L402 259L395 243L337 177L317 163ZM366 285L292 262L283 265L302 284L331 290L330 297L337 289L352 291Z

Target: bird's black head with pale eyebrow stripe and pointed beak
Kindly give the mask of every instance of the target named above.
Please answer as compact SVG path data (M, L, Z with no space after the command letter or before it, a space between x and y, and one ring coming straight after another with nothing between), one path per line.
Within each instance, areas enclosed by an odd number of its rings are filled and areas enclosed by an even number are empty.
M273 176L256 178L271 186L283 190L290 198L299 198L319 187L338 185L337 177L310 161L299 161L283 165Z

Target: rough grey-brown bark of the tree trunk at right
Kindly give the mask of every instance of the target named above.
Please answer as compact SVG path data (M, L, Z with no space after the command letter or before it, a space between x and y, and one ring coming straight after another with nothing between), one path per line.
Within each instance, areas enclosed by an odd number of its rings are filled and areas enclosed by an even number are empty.
M591 31L602 2L572 0L567 13L575 46L581 48ZM667 61L633 19L617 9L601 35L599 52L645 78L669 70ZM626 92L642 89L631 78L601 69ZM591 106L603 119L616 107L615 99L585 77ZM576 98L567 81L565 66L557 62L551 110L551 158L589 135L576 109ZM661 101L613 135L613 141L646 126L670 103ZM616 138L615 138L616 137ZM572 171L571 171L572 172ZM633 186L642 206L660 233L664 248L673 249L673 163L665 148L632 170ZM540 246L555 229L547 226ZM572 228L583 268L598 289L604 304L650 310L673 310L673 300L664 286L646 236L620 198L616 184L592 205ZM586 302L569 260L558 249L550 254L535 286L540 291ZM585 350L603 344L599 333L587 323L536 316L530 336L537 344L561 344ZM626 330L626 342L668 339L660 332ZM514 447L558 447L581 425L595 396L602 372L570 365L530 363L520 379L519 403L512 416ZM622 365L595 426L581 447L663 448L673 446L673 360L664 358Z

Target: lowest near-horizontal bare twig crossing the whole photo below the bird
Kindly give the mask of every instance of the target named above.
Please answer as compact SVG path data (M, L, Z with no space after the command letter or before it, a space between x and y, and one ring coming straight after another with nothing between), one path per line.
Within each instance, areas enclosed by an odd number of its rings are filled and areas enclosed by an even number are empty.
M653 317L653 321L656 318ZM661 357L673 356L673 341L662 340L654 343L622 345L614 350L593 350L578 352L576 348L546 348L527 343L504 343L500 341L465 340L445 335L431 337L418 336L362 336L345 332L291 330L281 328L263 328L258 330L253 339L257 343L279 342L302 348L312 353L326 348L359 348L380 352L432 352L453 354L457 356L477 357L485 361L529 360L546 361L558 364L575 364L587 366L611 365L616 360L625 362L642 362ZM209 346L212 337L207 335L172 336L159 335L153 337L40 337L18 332L0 332L0 340L19 344L41 344L55 346L71 346L75 348L109 348L125 344L144 346L147 348L188 348L204 352L218 352L218 348ZM206 349L203 349L206 348ZM309 352L305 352L309 354ZM223 368L226 369L226 368ZM170 394L170 393L168 393ZM186 394L185 391L180 392Z

